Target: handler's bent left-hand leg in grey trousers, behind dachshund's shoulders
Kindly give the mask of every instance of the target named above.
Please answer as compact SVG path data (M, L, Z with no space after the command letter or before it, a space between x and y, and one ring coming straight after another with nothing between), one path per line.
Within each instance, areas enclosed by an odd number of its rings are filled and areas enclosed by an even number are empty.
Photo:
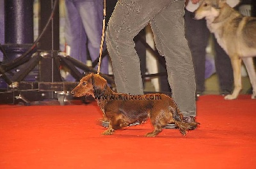
M116 4L106 33L118 92L143 94L140 59L133 38L170 0L120 0Z

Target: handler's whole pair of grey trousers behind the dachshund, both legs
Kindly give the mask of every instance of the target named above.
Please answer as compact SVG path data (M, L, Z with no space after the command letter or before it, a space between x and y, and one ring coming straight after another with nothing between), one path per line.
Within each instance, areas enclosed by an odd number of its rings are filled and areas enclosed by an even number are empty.
M143 94L140 59L133 38L150 24L166 59L172 98L184 116L195 116L195 73L184 36L184 0L119 0L109 20L106 43L118 92Z

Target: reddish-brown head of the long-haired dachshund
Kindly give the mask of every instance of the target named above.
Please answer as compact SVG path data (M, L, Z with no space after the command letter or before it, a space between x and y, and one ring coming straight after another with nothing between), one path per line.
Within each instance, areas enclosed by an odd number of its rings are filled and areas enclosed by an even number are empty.
M75 97L92 95L95 98L96 95L102 94L107 85L107 80L100 77L100 75L90 73L80 80L79 84L71 91L71 94Z

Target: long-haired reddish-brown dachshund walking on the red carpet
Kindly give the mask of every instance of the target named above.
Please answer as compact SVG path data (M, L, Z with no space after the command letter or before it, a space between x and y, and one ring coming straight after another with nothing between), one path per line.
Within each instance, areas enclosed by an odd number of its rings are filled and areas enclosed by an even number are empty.
M92 95L102 110L104 119L109 122L102 135L112 135L134 122L143 123L150 117L154 131L145 136L156 136L167 124L174 123L182 135L188 129L195 129L197 122L183 122L183 115L172 98L164 94L130 95L113 92L107 81L97 74L89 74L80 80L72 90L72 95L81 97Z

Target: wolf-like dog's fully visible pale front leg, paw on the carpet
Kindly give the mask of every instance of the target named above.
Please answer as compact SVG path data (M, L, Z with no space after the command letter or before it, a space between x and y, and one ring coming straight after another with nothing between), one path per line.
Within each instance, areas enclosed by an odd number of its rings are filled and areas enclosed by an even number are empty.
M235 57L235 58L234 58ZM241 76L241 59L236 56L230 56L231 64L234 73L234 91L228 94L224 99L236 99L242 89L242 76ZM234 58L234 59L232 59Z

